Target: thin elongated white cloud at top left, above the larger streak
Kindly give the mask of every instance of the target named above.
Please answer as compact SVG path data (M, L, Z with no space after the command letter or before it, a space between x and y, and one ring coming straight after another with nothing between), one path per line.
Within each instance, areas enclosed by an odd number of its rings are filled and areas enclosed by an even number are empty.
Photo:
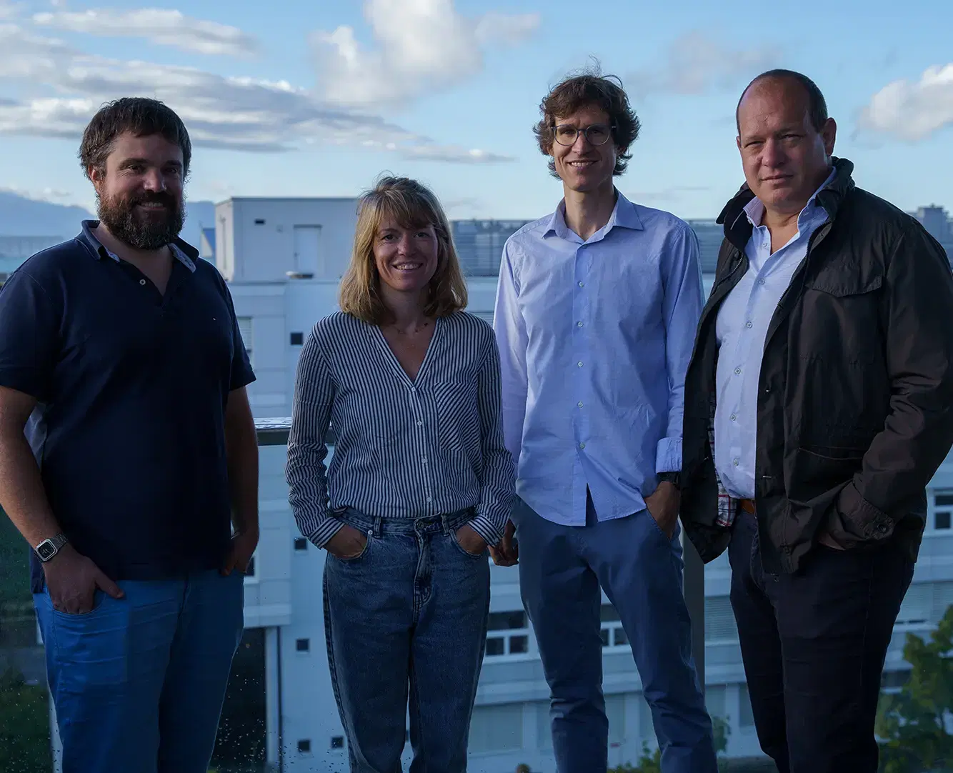
M258 49L255 38L236 27L193 19L179 10L57 10L35 13L33 22L89 35L142 37L162 46L197 53L248 56Z

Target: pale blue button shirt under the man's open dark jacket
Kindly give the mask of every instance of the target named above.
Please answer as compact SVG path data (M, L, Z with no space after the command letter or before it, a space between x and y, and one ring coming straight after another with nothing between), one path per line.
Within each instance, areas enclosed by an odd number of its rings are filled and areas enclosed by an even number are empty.
M758 382L771 318L781 295L807 255L807 246L827 220L816 198L824 181L798 215L798 233L771 254L771 234L761 225L764 205L753 198L744 208L754 231L744 248L748 270L724 299L715 324L719 357L716 375L715 467L732 497L755 496L755 447L758 436Z

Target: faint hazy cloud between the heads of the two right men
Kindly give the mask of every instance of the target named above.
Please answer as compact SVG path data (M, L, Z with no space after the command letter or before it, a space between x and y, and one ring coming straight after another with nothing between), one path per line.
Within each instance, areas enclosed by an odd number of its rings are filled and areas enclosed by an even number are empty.
M659 67L630 73L626 86L641 94L702 94L736 86L768 70L776 60L776 49L732 48L704 32L692 31L672 41Z

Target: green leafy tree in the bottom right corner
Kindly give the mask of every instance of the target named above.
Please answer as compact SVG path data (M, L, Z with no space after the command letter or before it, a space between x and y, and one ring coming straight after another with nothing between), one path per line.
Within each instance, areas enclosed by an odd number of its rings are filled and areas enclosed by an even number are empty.
M883 695L877 720L882 773L940 770L953 765L953 606L923 641L906 635L903 659L910 679L896 695Z

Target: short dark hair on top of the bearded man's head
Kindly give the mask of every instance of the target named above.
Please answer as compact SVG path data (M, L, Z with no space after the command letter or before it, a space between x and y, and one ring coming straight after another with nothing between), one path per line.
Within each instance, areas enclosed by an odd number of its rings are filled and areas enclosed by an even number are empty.
M92 116L79 146L79 162L89 176L90 169L104 170L112 153L112 144L120 134L130 132L144 137L160 134L182 149L182 178L189 175L192 140L185 124L172 108L143 96L126 96L103 105Z

